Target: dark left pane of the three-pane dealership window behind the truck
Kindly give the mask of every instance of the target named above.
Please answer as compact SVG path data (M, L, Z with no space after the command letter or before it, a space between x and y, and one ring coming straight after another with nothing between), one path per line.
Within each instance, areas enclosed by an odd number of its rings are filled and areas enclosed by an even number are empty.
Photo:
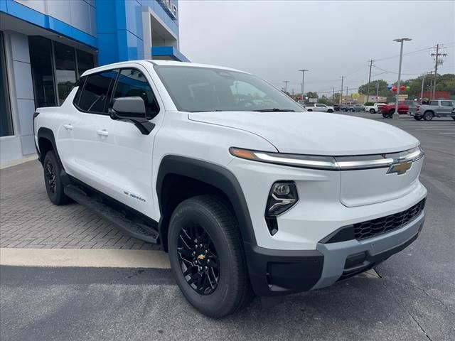
M49 39L28 37L31 75L36 107L55 107L55 85L52 67L52 46Z

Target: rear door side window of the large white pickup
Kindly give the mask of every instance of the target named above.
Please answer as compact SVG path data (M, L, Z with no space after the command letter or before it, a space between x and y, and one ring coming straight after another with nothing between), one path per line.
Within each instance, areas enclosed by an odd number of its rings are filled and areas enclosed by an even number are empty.
M84 88L80 94L77 107L84 112L97 114L107 113L107 98L109 86L114 82L117 72L105 71L88 75Z

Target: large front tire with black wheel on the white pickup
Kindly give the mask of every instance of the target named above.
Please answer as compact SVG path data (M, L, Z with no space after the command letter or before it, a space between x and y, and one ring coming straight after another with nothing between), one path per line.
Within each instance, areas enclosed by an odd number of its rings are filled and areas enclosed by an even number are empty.
M238 223L220 198L200 195L176 207L168 252L178 287L200 313L222 318L252 297Z

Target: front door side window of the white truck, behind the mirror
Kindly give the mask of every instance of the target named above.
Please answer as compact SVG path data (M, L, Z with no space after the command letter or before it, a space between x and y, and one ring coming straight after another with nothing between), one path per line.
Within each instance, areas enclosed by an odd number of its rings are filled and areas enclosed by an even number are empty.
M120 72L112 98L133 96L144 99L147 119L153 119L158 114L159 106L146 77L139 70L123 69Z

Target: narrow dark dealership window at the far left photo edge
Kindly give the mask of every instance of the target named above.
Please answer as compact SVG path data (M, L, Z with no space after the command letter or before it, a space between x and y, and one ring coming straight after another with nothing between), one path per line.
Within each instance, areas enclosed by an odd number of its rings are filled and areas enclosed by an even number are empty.
M0 32L0 137L11 136L14 134L13 124L11 121L11 110L9 107L4 51L3 32Z

